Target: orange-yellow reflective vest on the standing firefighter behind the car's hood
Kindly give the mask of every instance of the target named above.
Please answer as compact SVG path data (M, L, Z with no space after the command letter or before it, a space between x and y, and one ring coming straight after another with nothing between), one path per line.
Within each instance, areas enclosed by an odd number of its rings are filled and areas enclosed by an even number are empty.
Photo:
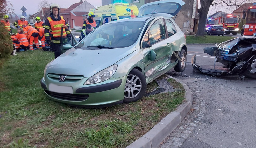
M49 23L51 25L51 34L53 35L54 38L56 37L60 37L60 33L61 33L61 26L64 25L65 26L65 19L63 18L63 16L61 16L61 20L60 21L53 21L51 19L51 17L47 17L47 19L49 20ZM66 31L65 29L63 29L63 35L62 36L66 36Z

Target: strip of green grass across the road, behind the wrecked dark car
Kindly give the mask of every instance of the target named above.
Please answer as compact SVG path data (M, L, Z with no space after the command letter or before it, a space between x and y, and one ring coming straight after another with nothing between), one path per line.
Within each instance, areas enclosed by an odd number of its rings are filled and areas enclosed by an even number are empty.
M205 36L186 36L186 42L187 44L192 43L221 43L230 39L233 39L235 37L232 36L211 36L211 35L205 35Z

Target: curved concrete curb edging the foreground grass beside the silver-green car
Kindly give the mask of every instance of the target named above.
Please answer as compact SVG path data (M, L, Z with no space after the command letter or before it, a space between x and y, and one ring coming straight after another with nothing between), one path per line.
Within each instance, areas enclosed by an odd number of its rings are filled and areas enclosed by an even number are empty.
M150 131L148 131L141 138L127 146L126 148L156 148L159 144L181 123L183 118L192 108L192 92L188 86L177 78L165 74L167 77L174 79L182 84L185 93L185 103L177 107L174 112L168 114L158 124L156 124Z

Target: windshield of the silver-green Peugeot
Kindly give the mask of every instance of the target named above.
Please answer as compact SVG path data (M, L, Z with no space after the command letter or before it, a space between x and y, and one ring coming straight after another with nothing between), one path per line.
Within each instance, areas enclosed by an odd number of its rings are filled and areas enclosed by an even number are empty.
M76 49L111 49L133 45L145 21L122 21L107 23L88 34Z

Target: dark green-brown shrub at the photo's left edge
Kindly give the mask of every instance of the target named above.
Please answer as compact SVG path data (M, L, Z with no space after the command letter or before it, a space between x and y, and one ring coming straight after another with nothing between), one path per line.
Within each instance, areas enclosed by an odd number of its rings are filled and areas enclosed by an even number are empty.
M13 45L8 30L4 28L4 24L0 23L0 66L10 58L13 51Z

